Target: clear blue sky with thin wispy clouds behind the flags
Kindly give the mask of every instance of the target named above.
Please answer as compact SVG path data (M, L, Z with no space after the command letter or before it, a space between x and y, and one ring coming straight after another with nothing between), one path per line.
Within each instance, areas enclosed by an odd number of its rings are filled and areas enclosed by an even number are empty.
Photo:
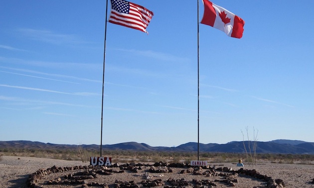
M103 144L197 142L197 0L132 2L155 15L149 35L107 22ZM199 25L200 143L247 140L246 127L314 142L313 0L212 2L245 26L236 39ZM100 144L105 11L1 1L0 140Z

